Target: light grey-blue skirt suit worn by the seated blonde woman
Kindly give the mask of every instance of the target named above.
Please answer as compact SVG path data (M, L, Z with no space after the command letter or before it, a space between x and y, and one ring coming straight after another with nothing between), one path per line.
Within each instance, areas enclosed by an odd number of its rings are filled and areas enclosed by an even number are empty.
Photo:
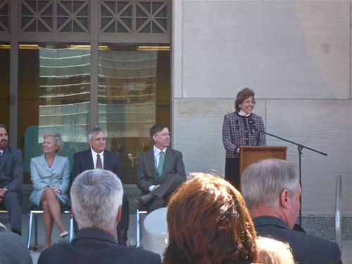
M34 191L30 195L30 203L39 206L44 187L53 185L60 186L61 194L56 194L63 203L68 203L68 187L70 187L70 163L68 158L55 155L54 163L49 168L42 156L30 160L30 177Z

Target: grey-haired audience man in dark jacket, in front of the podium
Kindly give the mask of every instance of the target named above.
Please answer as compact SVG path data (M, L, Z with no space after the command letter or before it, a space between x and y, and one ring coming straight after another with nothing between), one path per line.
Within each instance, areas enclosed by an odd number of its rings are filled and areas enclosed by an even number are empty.
M253 163L244 170L241 187L259 236L287 242L299 264L342 263L336 243L293 230L301 207L293 163L275 158Z

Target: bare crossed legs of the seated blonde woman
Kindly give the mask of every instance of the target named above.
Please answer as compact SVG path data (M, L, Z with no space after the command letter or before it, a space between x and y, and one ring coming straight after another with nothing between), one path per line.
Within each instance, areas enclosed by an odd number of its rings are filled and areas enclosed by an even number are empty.
M43 224L45 230L44 249L46 249L51 245L51 232L53 231L54 220L58 226L58 232L60 234L65 232L65 227L63 226L63 222L61 222L62 203L56 198L55 191L45 189L39 204L43 206Z

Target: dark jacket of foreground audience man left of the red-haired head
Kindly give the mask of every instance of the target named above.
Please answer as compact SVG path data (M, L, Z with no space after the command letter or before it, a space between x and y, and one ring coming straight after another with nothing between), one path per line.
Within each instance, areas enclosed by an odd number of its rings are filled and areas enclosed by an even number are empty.
M73 241L61 242L42 251L38 264L160 264L161 256L144 249L119 246L108 232L83 228Z

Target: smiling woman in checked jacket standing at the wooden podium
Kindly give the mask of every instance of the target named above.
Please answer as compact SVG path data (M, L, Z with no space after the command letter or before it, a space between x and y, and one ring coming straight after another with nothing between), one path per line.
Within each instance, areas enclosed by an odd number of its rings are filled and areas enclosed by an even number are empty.
M239 147L265 146L263 119L252 113L256 101L253 89L239 91L234 102L234 113L224 117L222 142L226 149L225 179L239 190Z

